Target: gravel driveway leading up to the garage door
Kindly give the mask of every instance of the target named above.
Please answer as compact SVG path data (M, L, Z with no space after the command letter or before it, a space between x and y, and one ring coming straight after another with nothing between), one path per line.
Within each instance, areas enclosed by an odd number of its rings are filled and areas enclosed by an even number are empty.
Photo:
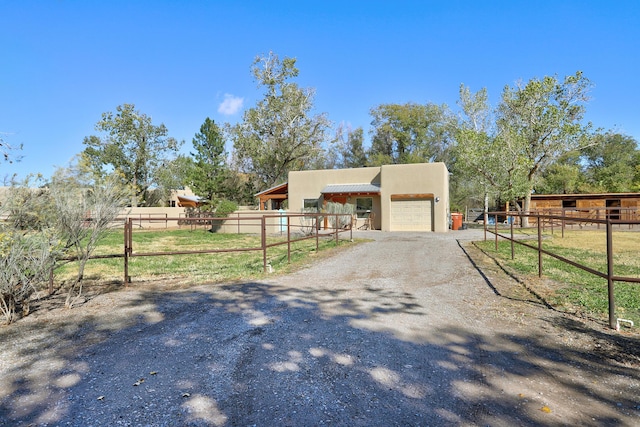
M477 231L362 236L294 274L0 328L0 424L640 424L637 336L545 307Z

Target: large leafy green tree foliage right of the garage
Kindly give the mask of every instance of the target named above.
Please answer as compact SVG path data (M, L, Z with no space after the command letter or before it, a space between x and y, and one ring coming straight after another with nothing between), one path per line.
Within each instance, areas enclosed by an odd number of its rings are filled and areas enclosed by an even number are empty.
M455 132L456 170L477 174L487 194L503 200L530 196L541 174L567 153L588 145L590 124L582 123L591 83L581 72L559 81L545 76L512 88L506 86L493 111L482 89L471 94L460 89L463 118ZM570 171L563 172L571 184ZM550 183L550 181L549 181ZM523 221L526 225L526 221Z

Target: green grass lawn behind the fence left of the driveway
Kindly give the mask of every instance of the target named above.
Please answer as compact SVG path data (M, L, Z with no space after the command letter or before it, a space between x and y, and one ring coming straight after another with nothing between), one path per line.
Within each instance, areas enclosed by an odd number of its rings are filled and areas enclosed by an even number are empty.
M338 247L352 244L348 234L340 236ZM282 242L286 236L272 236L267 244ZM171 252L189 250L225 250L240 248L260 248L260 236L250 234L218 234L206 230L160 230L133 231L133 253ZM267 262L277 273L291 271L299 267L318 252L335 249L335 236L320 237L319 251L315 238L291 244L291 264L287 261L287 245L267 249ZM124 237L121 230L109 232L103 238L95 255L121 254L124 252ZM212 254L161 255L132 257L129 260L129 275L132 282L166 279L185 284L213 283L258 279L264 276L262 250L246 252L223 252ZM56 282L74 277L77 273L75 262L58 268ZM87 281L118 282L124 277L124 259L95 259L87 263Z

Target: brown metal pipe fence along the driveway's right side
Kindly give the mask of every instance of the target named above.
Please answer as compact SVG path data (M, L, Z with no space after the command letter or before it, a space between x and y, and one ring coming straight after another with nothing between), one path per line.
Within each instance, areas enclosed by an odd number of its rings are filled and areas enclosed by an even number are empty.
M596 211L597 212L597 211ZM495 235L495 249L498 250L498 240L500 238L506 239L511 242L511 259L514 259L515 256L515 244L527 247L529 249L533 249L538 252L538 277L542 277L543 274L543 262L542 255L547 255L552 258L555 258L559 261L562 261L566 264L569 264L573 267L584 270L590 274L598 276L600 278L607 280L607 290L608 290L608 300L609 300L609 326L612 329L618 329L619 323L618 319L615 315L615 298L614 298L614 284L615 282L628 282L638 284L640 283L640 278L638 277L624 277L624 276L616 276L614 275L614 260L613 260L613 227L614 226L628 226L632 228L633 226L640 225L640 220L637 218L637 213L634 212L634 219L612 219L611 215L607 215L607 211L603 211L605 215L602 218L596 217L576 217L576 216L566 216L566 215L554 215L546 212L488 212L485 214L484 218L484 239L487 240L487 233L492 233ZM566 212L565 212L566 213ZM514 238L514 223L519 222L516 221L516 218L521 220L522 218L531 218L534 221L534 226L537 228L537 246L527 243L526 241L517 240ZM631 215L629 215L631 217ZM627 218L629 218L627 217ZM493 219L493 221L491 221ZM489 224L491 222L491 224ZM588 265L580 264L570 259L567 259L561 255L553 253L551 251L545 250L542 248L542 232L546 227L550 227L553 230L554 224L555 226L559 226L562 229L562 237L564 237L564 230L567 224L582 224L588 223L592 225L596 225L598 228L601 226L606 228L606 243L607 243L607 271L599 271L594 268L591 268ZM493 229L489 228L490 226ZM510 234L504 235L499 231L504 230L505 227L509 227Z

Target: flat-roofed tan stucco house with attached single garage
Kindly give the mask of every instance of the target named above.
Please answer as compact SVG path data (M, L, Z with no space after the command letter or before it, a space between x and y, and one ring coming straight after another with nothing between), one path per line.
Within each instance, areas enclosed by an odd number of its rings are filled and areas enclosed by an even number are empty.
M382 231L449 229L449 171L444 163L291 171L288 178L289 212L350 203L357 226L372 217L372 227Z

